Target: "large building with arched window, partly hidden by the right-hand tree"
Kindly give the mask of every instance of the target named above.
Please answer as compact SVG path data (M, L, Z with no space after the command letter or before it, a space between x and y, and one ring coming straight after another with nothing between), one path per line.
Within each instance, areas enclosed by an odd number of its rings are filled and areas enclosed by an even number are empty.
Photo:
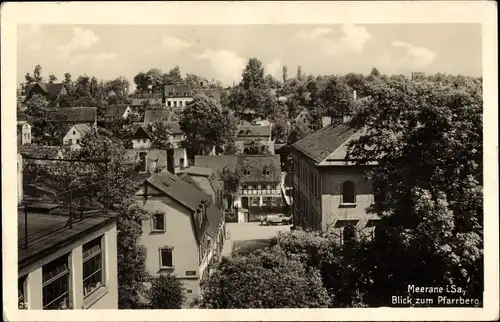
M347 118L306 136L292 145L294 224L304 229L346 227L373 233L378 217L368 214L374 204L373 184L365 177L367 166L345 159L347 144L361 135Z

